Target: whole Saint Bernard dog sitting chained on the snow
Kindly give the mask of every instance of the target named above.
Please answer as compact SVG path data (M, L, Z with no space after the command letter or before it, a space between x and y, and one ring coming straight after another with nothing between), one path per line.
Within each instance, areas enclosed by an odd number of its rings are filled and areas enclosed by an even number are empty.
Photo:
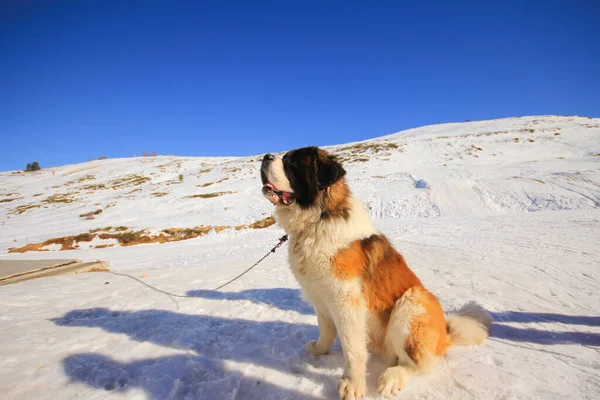
M352 196L346 171L317 147L264 156L263 194L289 235L289 262L304 297L315 309L319 338L306 344L317 356L339 336L344 372L341 399L366 393L368 350L388 368L379 392L396 394L419 373L431 371L450 346L482 343L492 319L467 303L448 319L437 298L373 225Z

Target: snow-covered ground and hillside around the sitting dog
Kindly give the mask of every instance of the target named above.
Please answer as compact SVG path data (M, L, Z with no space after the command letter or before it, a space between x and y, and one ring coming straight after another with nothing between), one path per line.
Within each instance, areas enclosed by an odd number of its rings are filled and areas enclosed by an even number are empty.
M600 398L600 119L443 124L329 149L444 308L475 299L494 315L484 346L451 349L399 399ZM252 223L272 213L258 160L113 159L55 175L2 173L0 257L103 259L161 289L201 293L243 271L282 231L8 249L106 226ZM188 197L197 194L215 197ZM2 286L0 322L6 399L325 399L337 396L343 367L339 344L319 358L303 350L316 317L285 249L202 299L172 299L107 273ZM370 398L382 370L372 357Z

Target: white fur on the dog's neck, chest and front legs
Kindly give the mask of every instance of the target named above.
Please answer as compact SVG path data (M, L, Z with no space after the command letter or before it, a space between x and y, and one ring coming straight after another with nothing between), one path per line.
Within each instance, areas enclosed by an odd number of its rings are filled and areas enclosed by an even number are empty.
M350 243L379 232L356 198L350 199L346 220L323 220L318 206L300 209L295 204L279 207L277 220L290 235L292 272L317 313L319 339L307 343L306 349L315 355L327 352L337 333L345 360L340 398L360 398L366 392L367 305L358 278L342 281L331 274L331 258Z

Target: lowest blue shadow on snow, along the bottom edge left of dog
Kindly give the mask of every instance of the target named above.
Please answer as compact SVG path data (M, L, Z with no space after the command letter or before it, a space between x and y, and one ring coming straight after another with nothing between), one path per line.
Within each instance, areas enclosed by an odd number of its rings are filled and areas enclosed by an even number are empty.
M98 353L82 353L64 359L63 367L72 382L85 382L113 393L139 388L152 400L320 398L244 376L239 370L228 369L223 362L195 355L119 362Z

